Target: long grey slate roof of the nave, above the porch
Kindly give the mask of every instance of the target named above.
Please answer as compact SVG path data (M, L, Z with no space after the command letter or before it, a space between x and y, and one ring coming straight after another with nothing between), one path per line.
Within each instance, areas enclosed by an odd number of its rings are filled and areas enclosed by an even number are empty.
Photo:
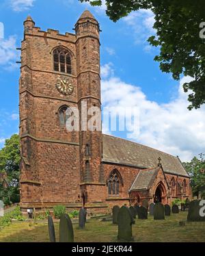
M167 173L189 177L178 157L143 146L130 140L102 134L103 162L125 164L139 168L155 168L161 157L163 170Z

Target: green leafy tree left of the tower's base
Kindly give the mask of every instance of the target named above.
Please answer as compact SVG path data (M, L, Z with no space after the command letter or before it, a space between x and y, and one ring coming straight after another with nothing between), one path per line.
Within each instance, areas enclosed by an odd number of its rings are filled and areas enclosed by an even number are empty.
M5 204L19 201L19 164L20 140L17 134L5 140L5 146L0 150L0 174L5 177L8 187L0 183L0 198Z

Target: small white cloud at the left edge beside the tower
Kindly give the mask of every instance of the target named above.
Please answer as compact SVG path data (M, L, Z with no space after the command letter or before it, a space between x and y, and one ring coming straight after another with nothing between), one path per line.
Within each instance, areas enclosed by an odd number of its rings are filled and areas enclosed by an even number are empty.
M5 69L16 68L18 57L20 53L16 51L16 36L0 39L0 65L3 65Z

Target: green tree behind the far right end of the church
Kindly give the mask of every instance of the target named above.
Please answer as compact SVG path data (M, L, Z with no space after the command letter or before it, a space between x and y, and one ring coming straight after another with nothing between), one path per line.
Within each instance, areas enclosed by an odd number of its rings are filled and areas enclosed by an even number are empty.
M202 192L202 196L205 196L205 159L204 154L200 154L200 157L193 157L191 162L184 163L184 167L191 177L191 188L193 195L197 196L199 192Z

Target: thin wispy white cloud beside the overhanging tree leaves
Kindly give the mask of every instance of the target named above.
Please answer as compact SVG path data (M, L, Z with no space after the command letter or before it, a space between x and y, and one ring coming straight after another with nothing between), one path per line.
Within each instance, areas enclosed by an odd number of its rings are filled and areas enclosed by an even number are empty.
M135 38L136 44L144 44L144 50L150 52L148 38L156 31L153 29L154 14L151 10L138 10L137 12L131 12L128 16L123 18L129 29L132 30L132 34Z

